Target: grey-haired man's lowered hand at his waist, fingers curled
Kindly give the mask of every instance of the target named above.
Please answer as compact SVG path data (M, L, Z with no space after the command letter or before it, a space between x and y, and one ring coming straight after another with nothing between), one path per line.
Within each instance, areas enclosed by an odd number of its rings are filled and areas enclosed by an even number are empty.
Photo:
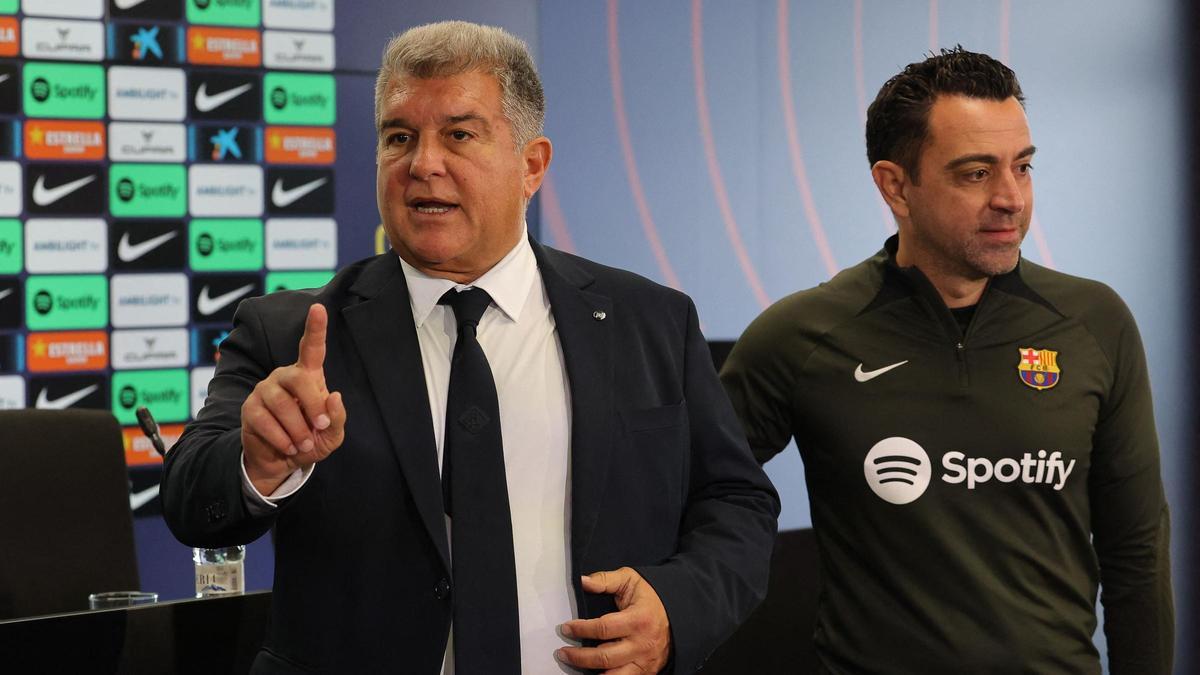
M617 609L599 619L577 619L559 627L564 637L600 640L594 647L563 647L558 659L576 668L612 674L658 673L671 655L671 623L662 601L629 567L583 577L589 593L616 596Z

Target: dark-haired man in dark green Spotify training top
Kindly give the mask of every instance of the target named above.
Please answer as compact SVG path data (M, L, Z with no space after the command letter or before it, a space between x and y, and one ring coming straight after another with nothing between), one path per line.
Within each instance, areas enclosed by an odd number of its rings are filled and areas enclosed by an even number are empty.
M1138 329L1020 257L1020 85L961 48L868 110L882 251L760 316L721 378L760 461L796 437L830 673L1170 673L1169 519Z

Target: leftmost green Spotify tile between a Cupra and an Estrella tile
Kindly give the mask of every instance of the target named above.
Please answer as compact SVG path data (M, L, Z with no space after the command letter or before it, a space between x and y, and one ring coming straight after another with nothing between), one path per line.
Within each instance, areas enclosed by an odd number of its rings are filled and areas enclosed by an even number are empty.
M25 114L31 118L104 117L103 66L30 61L23 80Z

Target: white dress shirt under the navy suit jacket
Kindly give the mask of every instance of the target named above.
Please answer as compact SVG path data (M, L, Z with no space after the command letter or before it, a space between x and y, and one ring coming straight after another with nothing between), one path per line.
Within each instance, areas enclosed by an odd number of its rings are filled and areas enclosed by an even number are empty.
M469 286L428 276L404 261L401 265L421 348L440 471L450 357L458 330L454 310L439 305L438 300L450 288ZM556 649L566 644L558 635L557 626L577 616L569 546L570 388L550 299L524 233L496 267L470 286L492 297L492 305L480 319L478 335L496 380L500 407L522 670L570 673L574 670L553 656ZM269 509L274 508L271 502L298 490L311 476L312 467L293 473L270 497L254 490L245 476L245 466L242 472L250 501ZM448 519L448 538L449 533ZM445 674L454 673L451 645L446 646Z

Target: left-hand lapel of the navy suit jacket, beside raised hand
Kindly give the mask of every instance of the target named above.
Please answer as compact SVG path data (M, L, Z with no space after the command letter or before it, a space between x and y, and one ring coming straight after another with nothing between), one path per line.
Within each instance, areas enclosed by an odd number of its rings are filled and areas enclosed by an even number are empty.
M392 253L367 264L350 292L364 301L342 316L374 392L392 450L442 562L450 569L438 452L421 348L408 299L408 285Z

